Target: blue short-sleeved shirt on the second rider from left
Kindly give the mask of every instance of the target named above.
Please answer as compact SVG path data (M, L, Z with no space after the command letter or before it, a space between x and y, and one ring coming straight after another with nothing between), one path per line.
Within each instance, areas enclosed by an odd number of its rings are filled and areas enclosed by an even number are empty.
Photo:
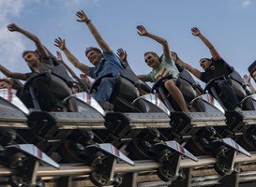
M96 67L90 67L90 75L93 79L98 79L102 76L112 73L117 76L123 70L119 58L112 52L103 52L103 56Z

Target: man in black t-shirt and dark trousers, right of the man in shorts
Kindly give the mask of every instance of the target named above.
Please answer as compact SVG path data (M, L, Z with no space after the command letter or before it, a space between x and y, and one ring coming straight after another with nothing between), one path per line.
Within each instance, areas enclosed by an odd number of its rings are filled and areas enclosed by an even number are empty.
M192 73L196 78L201 79L203 82L207 83L211 79L216 79L218 77L226 77L226 79L221 79L218 81L217 90L222 94L222 103L225 108L229 110L241 111L242 109L240 102L238 101L236 95L231 87L231 80L228 75L232 73L233 67L228 65L219 55L218 51L211 44L211 42L202 35L201 31L197 27L191 29L193 36L198 36L204 43L204 45L210 50L212 55L211 58L202 58L200 60L200 65L202 66L204 72L188 65L182 61L175 52L173 52L173 57L176 63L183 65L190 73Z

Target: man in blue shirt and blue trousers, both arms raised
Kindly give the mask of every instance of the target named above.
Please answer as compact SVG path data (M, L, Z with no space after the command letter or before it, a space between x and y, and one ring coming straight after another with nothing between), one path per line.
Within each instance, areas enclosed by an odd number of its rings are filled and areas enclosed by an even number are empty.
M104 78L98 87L98 92L91 94L98 102L108 102L112 93L115 82L118 78L118 73L124 69L121 65L121 61L113 52L107 42L99 35L97 28L88 19L83 10L77 12L78 22L84 22L89 28L91 34L96 39L100 49L96 47L89 47L85 50L85 56L88 58L90 63L94 65L89 67L79 62L79 60L68 50L65 44L65 39L60 37L55 39L55 46L60 50L63 50L65 55L75 67L80 69L85 75L98 79L102 76L112 74L111 78ZM102 50L102 51L101 51Z

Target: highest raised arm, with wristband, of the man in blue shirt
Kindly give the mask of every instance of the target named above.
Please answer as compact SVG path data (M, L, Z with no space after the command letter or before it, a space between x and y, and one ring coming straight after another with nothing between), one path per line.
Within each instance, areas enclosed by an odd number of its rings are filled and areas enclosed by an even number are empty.
M91 22L91 20L88 19L86 14L83 12L83 10L77 12L77 17L79 18L77 22L85 22L85 24L88 26L91 34L96 39L98 46L101 50L105 52L111 52L112 49L110 46L106 43L106 41L99 35L97 28L94 26L94 24Z

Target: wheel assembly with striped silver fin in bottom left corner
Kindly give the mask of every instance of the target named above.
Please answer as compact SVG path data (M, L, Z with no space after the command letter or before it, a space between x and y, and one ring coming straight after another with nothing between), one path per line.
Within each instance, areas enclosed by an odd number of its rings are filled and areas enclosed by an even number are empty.
M8 179L8 183L12 187L44 186L43 181L37 177L38 166L41 162L56 169L59 168L59 165L53 159L32 144L6 146L1 149L0 160L2 165L16 170Z

